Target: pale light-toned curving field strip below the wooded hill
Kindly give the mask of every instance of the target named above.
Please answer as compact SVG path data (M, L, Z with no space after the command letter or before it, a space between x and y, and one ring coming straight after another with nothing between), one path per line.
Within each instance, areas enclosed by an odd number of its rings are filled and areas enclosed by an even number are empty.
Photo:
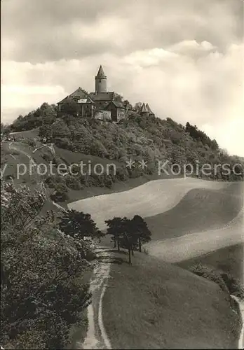
M168 211L192 188L217 189L226 186L229 186L229 183L192 178L156 180L121 193L73 202L69 204L69 209L88 211L100 229L104 229L104 220L114 216L132 217L139 214L147 217Z

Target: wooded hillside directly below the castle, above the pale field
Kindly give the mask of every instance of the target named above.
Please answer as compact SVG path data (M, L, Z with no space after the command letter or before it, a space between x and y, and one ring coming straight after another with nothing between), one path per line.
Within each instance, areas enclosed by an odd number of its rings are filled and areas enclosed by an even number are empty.
M12 151L2 142L1 168L8 164L4 180L8 181L12 176L15 183L33 186L36 182L35 176L21 176L22 181L16 179L18 162L29 165L28 158L22 152L18 154L19 148L37 165L48 167L53 162L54 174L46 172L42 181L52 200L64 207L87 197L130 190L156 179L193 176L206 180L243 181L241 158L227 155L215 140L196 126L189 123L183 126L171 118L131 116L119 123L102 123L69 115L57 118L56 107L44 103L27 116L20 116L9 127L3 126L3 130L11 132L10 137L15 140ZM135 163L129 167L128 160ZM81 162L85 174L79 170ZM238 165L233 168L236 163ZM67 166L67 175L57 173L61 164ZM73 167L74 164L78 166ZM224 164L228 165L228 172ZM98 174L95 173L97 165ZM203 165L210 167L208 172L204 171ZM77 174L72 174L68 167L78 169ZM160 211L151 215L155 214Z

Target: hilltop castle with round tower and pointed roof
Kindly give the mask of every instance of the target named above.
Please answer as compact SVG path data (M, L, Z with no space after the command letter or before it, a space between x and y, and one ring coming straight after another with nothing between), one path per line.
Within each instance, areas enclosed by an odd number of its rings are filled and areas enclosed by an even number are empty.
M115 92L107 91L107 76L100 66L95 76L95 92L86 92L81 87L57 103L57 116L72 110L72 114L99 120L118 122L128 116L154 116L148 104L142 104L140 111L133 109L128 102L118 101Z

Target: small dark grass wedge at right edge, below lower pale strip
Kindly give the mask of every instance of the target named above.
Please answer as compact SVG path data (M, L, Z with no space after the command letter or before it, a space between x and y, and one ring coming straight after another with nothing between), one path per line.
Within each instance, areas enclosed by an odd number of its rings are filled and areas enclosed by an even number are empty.
M188 269L191 265L201 262L203 265L209 265L224 272L229 272L231 276L243 281L243 255L244 244L236 244L198 256L197 258L178 262L177 265Z

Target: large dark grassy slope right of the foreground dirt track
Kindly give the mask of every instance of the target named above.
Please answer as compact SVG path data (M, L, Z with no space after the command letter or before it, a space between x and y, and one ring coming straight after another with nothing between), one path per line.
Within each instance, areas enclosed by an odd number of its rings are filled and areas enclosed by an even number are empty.
M104 295L112 349L229 349L236 314L217 284L136 253L133 265L112 265Z

